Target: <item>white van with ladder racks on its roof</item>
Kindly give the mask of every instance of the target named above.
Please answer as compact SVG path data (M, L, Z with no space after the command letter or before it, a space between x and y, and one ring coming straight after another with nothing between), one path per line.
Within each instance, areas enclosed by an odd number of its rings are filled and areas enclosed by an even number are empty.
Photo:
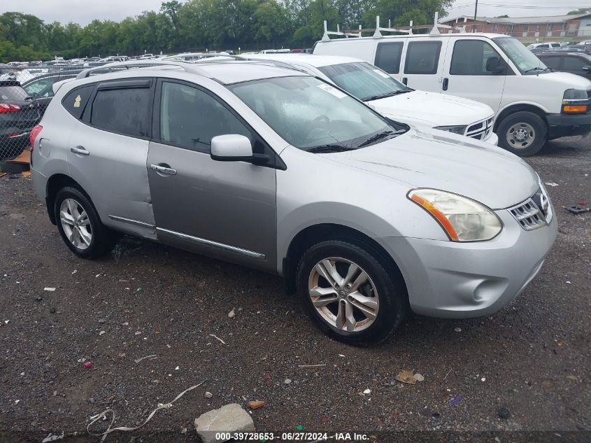
M591 82L551 72L513 37L435 29L335 40L325 34L314 54L364 59L413 89L481 101L497 113L499 146L522 157L534 155L549 139L591 132Z

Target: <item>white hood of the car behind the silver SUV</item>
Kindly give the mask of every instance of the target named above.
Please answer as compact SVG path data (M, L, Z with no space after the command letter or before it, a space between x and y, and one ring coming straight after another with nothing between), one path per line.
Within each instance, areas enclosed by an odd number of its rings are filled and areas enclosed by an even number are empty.
M470 125L494 115L486 104L436 92L411 91L366 103L392 120L411 119L430 127Z

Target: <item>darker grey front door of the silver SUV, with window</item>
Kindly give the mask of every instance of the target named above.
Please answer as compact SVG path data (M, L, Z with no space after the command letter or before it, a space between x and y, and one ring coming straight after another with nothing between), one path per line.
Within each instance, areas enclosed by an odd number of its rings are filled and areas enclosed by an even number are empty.
M148 177L158 238L223 260L276 270L276 170L212 160L211 139L247 136L269 149L210 92L161 80Z

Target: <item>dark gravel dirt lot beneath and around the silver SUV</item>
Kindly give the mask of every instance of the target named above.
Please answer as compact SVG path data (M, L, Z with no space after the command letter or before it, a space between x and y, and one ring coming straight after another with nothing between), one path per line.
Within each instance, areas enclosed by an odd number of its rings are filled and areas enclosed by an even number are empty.
M364 349L321 335L276 276L132 238L108 258L79 260L31 181L1 178L0 441L64 432L61 441L98 442L90 416L111 408L115 426L137 426L201 381L141 430L106 441L198 441L194 418L257 399L259 431L591 441L591 213L561 208L591 203L591 139L554 141L527 161L556 183L560 234L539 277L494 316L414 317ZM425 381L395 381L405 369ZM473 434L483 431L493 433Z

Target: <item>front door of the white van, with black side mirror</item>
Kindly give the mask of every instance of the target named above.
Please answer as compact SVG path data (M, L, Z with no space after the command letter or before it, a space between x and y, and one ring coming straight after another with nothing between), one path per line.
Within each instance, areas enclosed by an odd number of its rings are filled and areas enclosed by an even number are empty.
M487 69L490 59L497 57L503 71ZM486 38L450 38L450 46L443 69L443 94L456 95L480 101L499 110L507 75L513 75L511 67Z

